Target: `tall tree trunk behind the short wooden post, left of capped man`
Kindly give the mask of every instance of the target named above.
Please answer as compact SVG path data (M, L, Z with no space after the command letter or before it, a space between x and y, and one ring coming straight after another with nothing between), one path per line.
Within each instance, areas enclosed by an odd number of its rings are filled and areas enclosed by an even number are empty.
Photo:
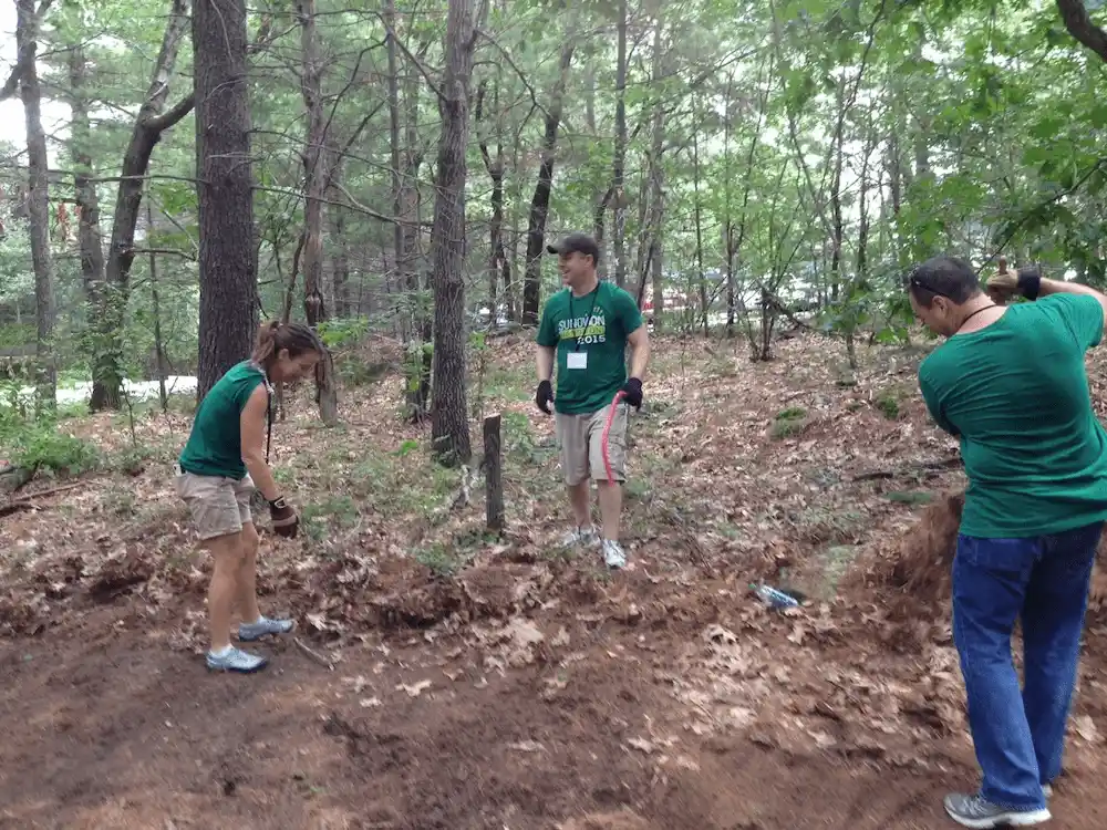
M438 95L442 135L435 165L431 268L434 286L432 453L446 466L468 464L465 403L465 151L469 77L476 46L473 0L452 0L446 15L446 72Z

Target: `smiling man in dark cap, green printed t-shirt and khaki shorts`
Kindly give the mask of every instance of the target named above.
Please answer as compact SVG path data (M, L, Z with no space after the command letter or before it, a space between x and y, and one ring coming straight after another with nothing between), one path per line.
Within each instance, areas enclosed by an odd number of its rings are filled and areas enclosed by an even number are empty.
M538 329L538 408L556 409L561 470L576 521L567 547L593 544L609 568L627 564L619 543L619 515L625 480L627 411L642 406L642 376L650 344L642 313L629 293L596 273L600 250L584 234L571 234L549 246L558 256L565 289L546 301ZM627 377L627 345L632 349ZM550 378L557 365L557 397ZM612 412L619 392L622 402ZM608 433L603 445L604 430ZM607 461L604 461L604 453ZM611 478L608 480L608 464ZM602 536L592 527L588 481L599 490Z

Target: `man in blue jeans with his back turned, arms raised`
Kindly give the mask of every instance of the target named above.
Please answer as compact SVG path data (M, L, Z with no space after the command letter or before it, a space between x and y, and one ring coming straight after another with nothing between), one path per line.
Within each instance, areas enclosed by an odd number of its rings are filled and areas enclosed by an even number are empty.
M969 477L953 639L983 781L948 796L945 809L964 827L1030 827L1049 819L1107 519L1107 433L1084 365L1107 298L1002 263L985 294L950 257L923 262L908 282L915 314L948 338L919 367L919 386L938 425L960 437ZM1036 302L1003 304L1015 294ZM1022 689L1011 655L1018 619Z

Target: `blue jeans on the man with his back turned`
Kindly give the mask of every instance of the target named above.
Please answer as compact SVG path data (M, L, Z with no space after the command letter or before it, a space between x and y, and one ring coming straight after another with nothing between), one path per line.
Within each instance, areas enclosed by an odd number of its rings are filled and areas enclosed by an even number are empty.
M981 795L1008 809L1045 807L1061 774L1088 583L1104 523L1028 539L958 537L953 641L969 697ZM1022 615L1025 686L1011 654Z

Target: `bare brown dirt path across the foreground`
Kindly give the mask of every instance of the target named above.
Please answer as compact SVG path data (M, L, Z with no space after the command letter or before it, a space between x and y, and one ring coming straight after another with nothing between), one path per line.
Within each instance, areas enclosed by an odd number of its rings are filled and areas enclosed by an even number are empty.
M776 677L721 660L741 645L728 626L786 649L783 618L707 622L717 606L696 594L683 608L700 613L682 619L674 598L643 593L641 615L621 620L618 600L599 600L568 627L539 609L478 636L394 634L343 650L334 672L273 641L271 670L249 678L136 630L126 602L91 611L0 652L0 827L950 826L941 796L974 776L963 736L918 713L892 729L855 717L823 681L848 671L841 645L819 667L818 650L797 650ZM1097 630L1078 712L1100 722L1101 649ZM746 676L769 687L731 685ZM1103 826L1100 755L1074 740L1053 827Z

